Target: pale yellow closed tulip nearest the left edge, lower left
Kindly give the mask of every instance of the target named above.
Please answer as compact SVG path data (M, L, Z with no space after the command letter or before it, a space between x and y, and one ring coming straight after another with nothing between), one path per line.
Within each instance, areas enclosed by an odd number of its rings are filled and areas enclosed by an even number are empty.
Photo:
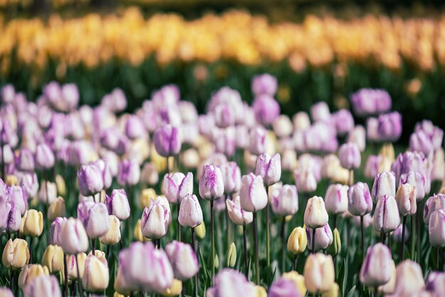
M28 243L23 239L9 239L3 250L1 263L6 269L17 270L29 262Z

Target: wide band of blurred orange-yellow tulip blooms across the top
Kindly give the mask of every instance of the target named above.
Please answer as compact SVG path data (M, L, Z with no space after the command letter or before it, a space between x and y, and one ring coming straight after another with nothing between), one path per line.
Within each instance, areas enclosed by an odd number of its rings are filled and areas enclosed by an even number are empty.
M10 57L16 53L19 62L33 69L45 69L48 59L58 61L60 73L71 65L95 67L112 58L139 65L150 55L161 64L229 59L254 65L289 60L296 71L306 64L321 67L351 60L371 60L397 70L407 60L430 71L436 63L445 64L444 20L443 15L368 15L348 21L307 16L303 23L271 24L264 16L230 11L187 21L176 14L145 19L134 7L121 16L91 13L64 20L53 14L48 23L41 18L16 18L0 24L0 69L8 73L14 67ZM77 36L82 36L82 42Z

